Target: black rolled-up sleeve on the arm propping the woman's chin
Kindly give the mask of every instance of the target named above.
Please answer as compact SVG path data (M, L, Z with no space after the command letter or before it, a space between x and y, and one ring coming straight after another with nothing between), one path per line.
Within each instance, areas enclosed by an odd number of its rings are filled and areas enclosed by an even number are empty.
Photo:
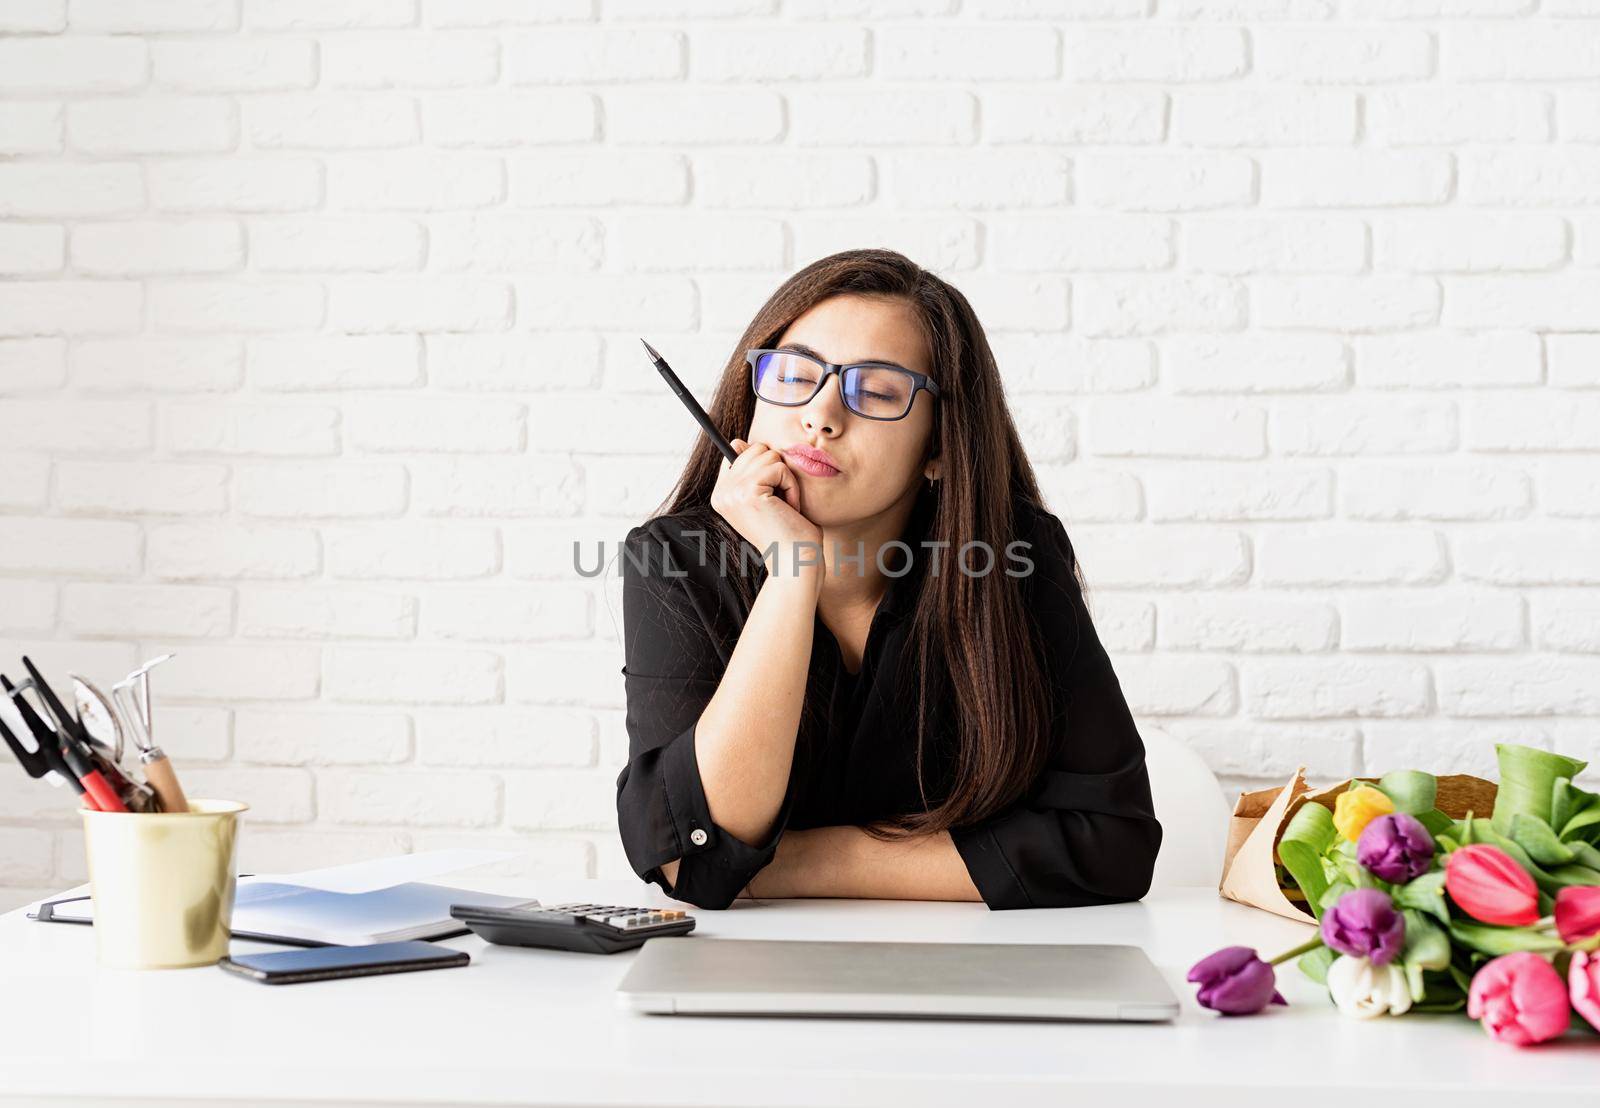
M618 829L629 865L667 895L699 908L726 908L778 853L795 797L794 778L766 839L749 844L710 818L694 727L710 703L726 656L696 586L694 546L646 524L622 551L622 676L627 693L627 765L616 778ZM678 860L669 887L662 866Z

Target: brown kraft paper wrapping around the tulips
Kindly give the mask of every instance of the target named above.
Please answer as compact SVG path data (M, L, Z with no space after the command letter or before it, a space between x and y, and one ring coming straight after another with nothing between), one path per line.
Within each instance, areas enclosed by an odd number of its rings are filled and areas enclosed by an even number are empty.
M1339 781L1325 789L1314 791L1306 785L1306 767L1294 770L1288 785L1272 789L1256 789L1240 793L1234 804L1234 815L1227 825L1227 850L1222 855L1222 879L1218 884L1229 900L1237 900L1251 908L1261 908L1286 919L1298 919L1302 924L1315 924L1317 917L1298 901L1290 900L1278 885L1278 839L1283 829L1294 818L1301 804L1322 804L1333 810L1334 797L1344 793L1354 781L1376 785L1376 777L1358 777ZM1469 773L1448 773L1437 778L1438 797L1434 805L1451 820L1459 820L1472 812L1474 818L1488 818L1494 813L1494 793L1498 786L1482 777Z

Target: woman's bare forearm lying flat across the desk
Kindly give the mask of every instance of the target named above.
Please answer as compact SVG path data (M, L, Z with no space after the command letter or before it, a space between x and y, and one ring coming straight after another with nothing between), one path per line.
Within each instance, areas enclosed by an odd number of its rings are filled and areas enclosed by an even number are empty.
M982 900L949 831L885 842L858 826L787 831L744 895Z

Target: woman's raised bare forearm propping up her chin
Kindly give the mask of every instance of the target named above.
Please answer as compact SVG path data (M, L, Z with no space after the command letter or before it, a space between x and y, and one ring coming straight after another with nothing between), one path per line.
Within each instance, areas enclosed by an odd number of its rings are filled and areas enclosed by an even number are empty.
M811 668L822 570L784 570L762 583L717 693L694 729L710 818L744 842L771 833L789 791Z

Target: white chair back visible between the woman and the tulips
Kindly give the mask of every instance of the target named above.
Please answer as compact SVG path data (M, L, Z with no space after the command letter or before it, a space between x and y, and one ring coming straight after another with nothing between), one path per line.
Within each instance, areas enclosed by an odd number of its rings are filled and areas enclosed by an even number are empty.
M1227 820L1234 807L1216 775L1187 743L1158 727L1141 730L1139 737L1155 818L1162 821L1162 852L1150 887L1214 889L1222 877Z

